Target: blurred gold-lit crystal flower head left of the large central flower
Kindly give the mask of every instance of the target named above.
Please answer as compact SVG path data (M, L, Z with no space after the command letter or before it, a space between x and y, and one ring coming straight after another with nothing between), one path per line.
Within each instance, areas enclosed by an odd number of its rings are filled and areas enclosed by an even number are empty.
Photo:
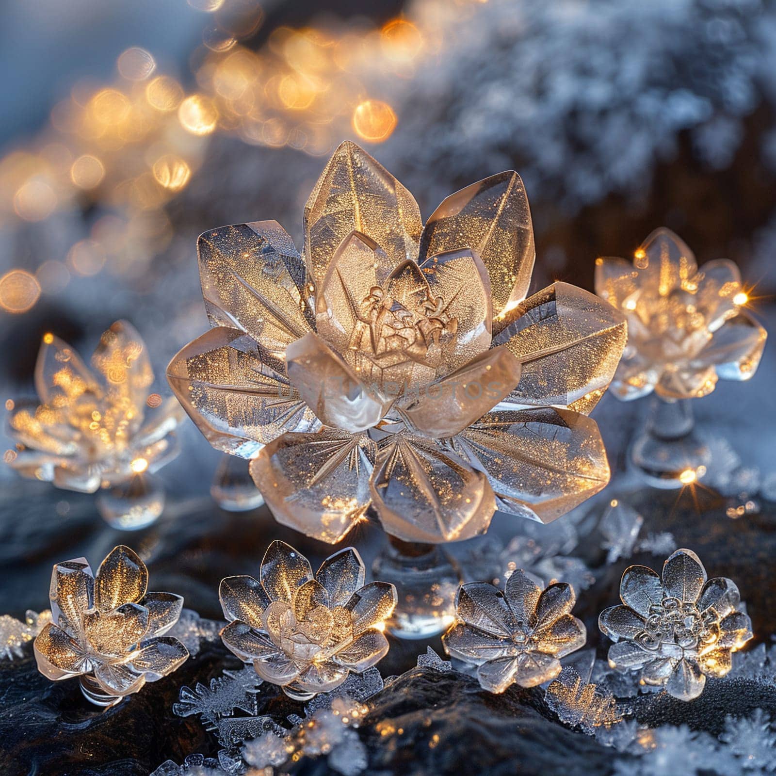
M44 334L38 401L14 405L7 431L16 450L6 460L23 476L85 493L160 469L178 454L171 431L183 414L173 397L147 412L153 382L144 341L124 320L102 334L92 369Z

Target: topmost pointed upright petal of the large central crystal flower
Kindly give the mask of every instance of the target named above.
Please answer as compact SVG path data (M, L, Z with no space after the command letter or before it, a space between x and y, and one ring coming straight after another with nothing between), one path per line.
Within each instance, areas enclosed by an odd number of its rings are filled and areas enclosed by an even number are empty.
M320 284L331 258L359 231L398 263L417 255L421 212L407 189L350 140L332 155L304 208L307 270Z

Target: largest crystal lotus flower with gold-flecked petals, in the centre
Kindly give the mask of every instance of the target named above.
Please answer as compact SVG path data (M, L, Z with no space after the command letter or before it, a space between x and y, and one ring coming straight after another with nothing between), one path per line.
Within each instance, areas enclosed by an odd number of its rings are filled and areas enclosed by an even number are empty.
M304 210L304 258L275 221L199 237L213 328L168 379L210 443L253 459L280 522L338 542L367 511L410 542L550 521L609 479L600 399L625 321L557 282L525 298L528 199L503 172L425 227L350 142Z

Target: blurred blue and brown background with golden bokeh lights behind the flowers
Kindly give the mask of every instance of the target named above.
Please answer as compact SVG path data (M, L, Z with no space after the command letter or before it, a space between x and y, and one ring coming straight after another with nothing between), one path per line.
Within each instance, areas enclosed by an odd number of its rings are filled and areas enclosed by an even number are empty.
M0 68L4 400L32 393L43 332L88 355L121 317L167 395L166 363L207 326L196 236L275 219L300 244L303 204L345 138L424 217L462 185L519 171L533 290L591 289L598 255L631 255L666 225L699 263L738 262L769 315L776 6L765 0L5 0ZM755 381L773 376L766 351ZM720 385L697 404L726 406L735 427L730 397L772 402ZM205 493L217 454L189 421L182 433L168 487Z

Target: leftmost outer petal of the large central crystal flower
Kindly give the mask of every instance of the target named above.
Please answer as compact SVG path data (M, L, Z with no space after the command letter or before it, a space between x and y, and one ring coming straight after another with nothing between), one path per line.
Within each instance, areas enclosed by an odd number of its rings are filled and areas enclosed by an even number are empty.
M186 345L168 365L175 396L216 449L251 458L286 431L319 426L283 376L285 365L268 360L248 334L218 327Z

